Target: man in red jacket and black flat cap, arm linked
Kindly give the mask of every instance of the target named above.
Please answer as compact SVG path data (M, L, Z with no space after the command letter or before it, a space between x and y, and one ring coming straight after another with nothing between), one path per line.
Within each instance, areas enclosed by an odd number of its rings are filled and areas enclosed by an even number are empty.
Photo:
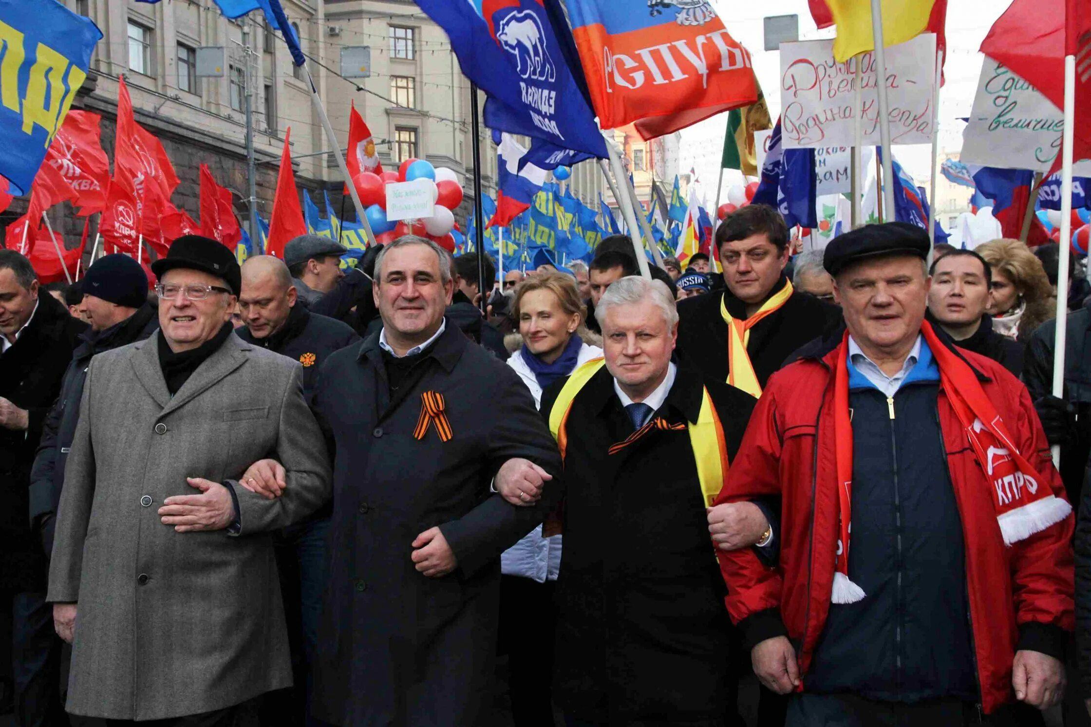
M1027 389L924 320L927 252L829 244L848 330L769 378L718 499L781 497L776 567L718 555L789 726L1041 724L1064 692L1071 508Z

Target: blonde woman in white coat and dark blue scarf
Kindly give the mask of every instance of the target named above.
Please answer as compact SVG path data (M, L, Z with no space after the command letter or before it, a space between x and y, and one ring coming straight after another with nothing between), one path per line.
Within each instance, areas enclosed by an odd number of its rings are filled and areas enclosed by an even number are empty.
M542 389L602 355L580 332L586 311L576 280L541 272L520 282L512 304L523 347L507 365L541 407ZM501 558L500 639L508 654L515 727L552 727L553 589L561 568L561 535L542 537L541 525Z

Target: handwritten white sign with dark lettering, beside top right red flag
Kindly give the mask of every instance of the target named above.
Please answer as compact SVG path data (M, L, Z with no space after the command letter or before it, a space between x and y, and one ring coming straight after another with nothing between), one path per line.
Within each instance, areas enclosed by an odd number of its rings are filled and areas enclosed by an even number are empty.
M970 123L962 132L960 160L1045 172L1060 153L1064 131L1060 109L1003 63L986 57Z

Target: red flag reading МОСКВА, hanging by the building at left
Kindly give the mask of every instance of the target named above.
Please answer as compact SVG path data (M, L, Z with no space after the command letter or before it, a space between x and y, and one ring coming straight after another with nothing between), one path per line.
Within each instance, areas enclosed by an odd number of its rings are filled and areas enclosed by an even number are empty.
M72 189L73 202L80 206L82 216L100 213L106 207L110 162L99 141L99 120L97 113L69 111L46 153L46 162Z

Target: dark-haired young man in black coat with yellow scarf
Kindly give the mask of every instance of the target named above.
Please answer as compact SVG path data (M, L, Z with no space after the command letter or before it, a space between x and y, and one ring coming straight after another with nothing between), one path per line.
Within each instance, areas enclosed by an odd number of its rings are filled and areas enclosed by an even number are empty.
M727 290L679 303L679 350L706 378L760 397L772 372L840 319L836 306L792 288L788 242L767 205L746 205L717 228Z

